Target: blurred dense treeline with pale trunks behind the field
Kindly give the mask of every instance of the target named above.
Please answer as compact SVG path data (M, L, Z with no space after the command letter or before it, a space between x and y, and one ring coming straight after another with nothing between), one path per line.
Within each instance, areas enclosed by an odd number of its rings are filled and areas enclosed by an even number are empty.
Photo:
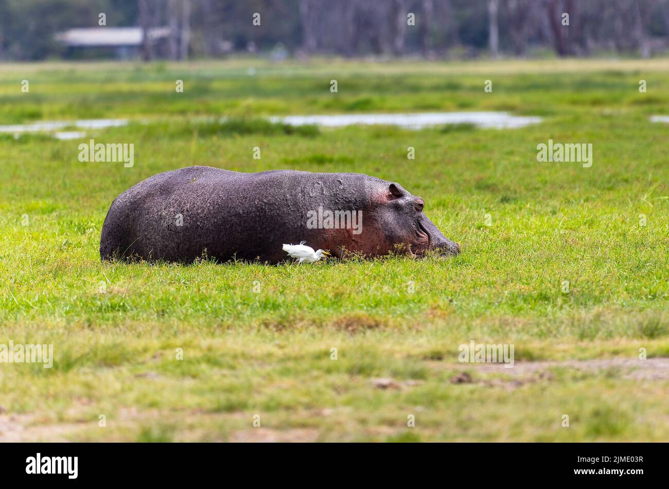
M98 27L100 13L108 27L169 27L162 50L145 36L145 59L255 50L430 58L553 50L645 58L669 47L669 0L2 0L0 59L81 56L54 35Z

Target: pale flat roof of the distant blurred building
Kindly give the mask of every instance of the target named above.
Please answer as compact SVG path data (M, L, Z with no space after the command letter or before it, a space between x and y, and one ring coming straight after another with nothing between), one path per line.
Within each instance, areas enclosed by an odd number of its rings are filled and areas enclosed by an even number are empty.
M149 39L167 37L169 27L152 27ZM56 40L76 47L138 46L142 43L141 27L80 27L56 34Z

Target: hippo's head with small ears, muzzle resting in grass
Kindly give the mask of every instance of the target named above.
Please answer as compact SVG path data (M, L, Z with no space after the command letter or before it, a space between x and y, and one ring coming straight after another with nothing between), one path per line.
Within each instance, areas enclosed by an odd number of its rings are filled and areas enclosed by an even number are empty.
M427 250L436 250L443 255L454 256L460 253L460 246L437 229L425 213L425 201L415 197L399 185L385 183L375 199L375 217L382 224L383 233L388 243L404 244L409 253L421 256Z

